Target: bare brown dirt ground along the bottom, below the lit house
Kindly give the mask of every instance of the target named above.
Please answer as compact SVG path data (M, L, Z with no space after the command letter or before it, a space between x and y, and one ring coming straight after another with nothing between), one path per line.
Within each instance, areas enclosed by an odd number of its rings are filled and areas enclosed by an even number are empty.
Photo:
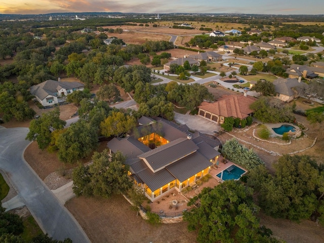
M196 242L184 222L152 226L131 210L121 195L108 199L74 197L65 207L93 243L105 242Z

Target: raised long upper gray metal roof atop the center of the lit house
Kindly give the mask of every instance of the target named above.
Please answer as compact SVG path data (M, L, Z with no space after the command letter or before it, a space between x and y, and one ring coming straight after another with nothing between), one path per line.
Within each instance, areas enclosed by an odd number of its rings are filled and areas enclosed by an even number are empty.
M199 147L187 138L179 138L163 146L152 149L138 157L143 158L153 171L164 168L182 157L196 151Z

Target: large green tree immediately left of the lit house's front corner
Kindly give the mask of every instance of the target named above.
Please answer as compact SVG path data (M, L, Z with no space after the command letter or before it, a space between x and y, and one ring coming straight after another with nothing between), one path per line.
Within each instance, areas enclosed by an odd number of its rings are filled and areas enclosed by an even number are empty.
M73 170L73 192L85 196L109 197L112 194L126 193L132 187L128 176L129 166L120 152L109 156L107 149L94 152L93 164L79 165Z

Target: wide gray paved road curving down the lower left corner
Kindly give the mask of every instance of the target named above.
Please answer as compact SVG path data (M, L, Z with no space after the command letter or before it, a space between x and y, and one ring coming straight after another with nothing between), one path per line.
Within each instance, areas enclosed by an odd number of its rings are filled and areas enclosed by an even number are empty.
M27 133L27 128L0 129L0 168L11 178L43 231L58 240L69 237L75 243L90 242L72 215L23 159L24 149L30 143L25 140Z

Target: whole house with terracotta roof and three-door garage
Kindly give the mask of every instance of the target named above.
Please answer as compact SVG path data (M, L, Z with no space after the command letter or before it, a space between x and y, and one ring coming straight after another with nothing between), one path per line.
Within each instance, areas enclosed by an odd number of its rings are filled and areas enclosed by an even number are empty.
M224 96L214 103L204 101L198 106L198 115L218 124L223 124L226 117L245 119L254 112L250 109L250 105L256 100L245 93L244 95Z

